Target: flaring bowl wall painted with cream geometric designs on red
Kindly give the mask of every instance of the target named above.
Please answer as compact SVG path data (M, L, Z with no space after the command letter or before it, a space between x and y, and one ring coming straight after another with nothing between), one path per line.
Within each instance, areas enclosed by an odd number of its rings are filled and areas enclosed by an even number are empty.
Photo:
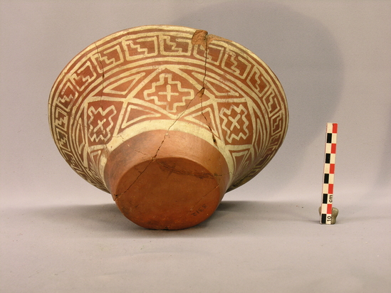
M195 32L120 31L83 50L58 76L49 98L51 132L85 180L108 191L103 173L110 151L140 129L168 131L181 123L223 151L229 190L276 154L288 126L276 76L243 46L212 35L194 43Z

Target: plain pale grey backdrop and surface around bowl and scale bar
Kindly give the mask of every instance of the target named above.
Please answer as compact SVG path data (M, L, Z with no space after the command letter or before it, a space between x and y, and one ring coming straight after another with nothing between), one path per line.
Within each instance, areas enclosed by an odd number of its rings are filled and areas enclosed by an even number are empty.
M241 43L288 99L276 157L187 230L132 224L48 129L66 63L147 24ZM391 1L0 0L0 102L0 292L391 291ZM326 122L336 225L318 223Z

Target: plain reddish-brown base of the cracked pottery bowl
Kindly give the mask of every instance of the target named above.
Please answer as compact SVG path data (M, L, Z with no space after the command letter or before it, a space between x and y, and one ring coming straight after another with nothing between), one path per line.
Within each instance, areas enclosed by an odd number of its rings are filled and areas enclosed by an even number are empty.
M179 230L214 213L228 188L224 156L204 139L155 130L108 157L105 181L120 211L144 228ZM212 134L211 134L212 135Z

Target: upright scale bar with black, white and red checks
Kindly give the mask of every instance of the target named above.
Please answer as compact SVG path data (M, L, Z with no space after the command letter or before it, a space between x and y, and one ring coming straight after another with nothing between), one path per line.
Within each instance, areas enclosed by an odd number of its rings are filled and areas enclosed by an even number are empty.
M323 169L322 203L320 206L320 223L332 223L335 152L337 150L337 123L328 123L326 127L325 164Z

